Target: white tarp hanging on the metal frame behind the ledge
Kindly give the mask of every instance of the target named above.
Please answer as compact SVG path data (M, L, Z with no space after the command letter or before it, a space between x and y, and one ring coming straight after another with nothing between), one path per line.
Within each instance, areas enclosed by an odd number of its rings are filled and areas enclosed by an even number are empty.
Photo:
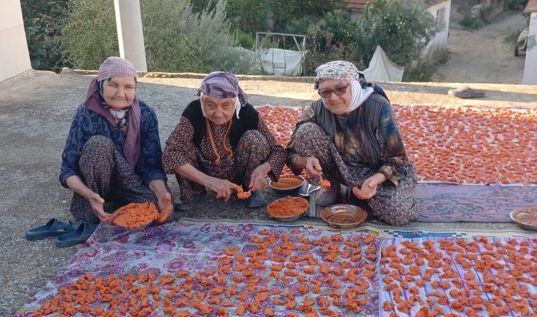
M300 76L302 55L299 51L281 48L263 48L259 51L261 68L279 76Z

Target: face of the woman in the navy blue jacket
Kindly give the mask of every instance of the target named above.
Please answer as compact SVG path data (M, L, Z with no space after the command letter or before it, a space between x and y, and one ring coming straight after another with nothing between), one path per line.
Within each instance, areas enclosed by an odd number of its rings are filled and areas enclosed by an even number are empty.
M134 77L114 77L104 81L103 97L113 110L122 110L132 105L135 96Z

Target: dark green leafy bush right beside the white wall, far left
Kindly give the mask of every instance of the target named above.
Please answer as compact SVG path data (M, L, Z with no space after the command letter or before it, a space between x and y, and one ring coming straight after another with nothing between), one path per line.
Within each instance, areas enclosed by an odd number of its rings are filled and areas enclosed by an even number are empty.
M64 63L58 35L67 18L67 2L21 0L20 4L32 68L59 70Z

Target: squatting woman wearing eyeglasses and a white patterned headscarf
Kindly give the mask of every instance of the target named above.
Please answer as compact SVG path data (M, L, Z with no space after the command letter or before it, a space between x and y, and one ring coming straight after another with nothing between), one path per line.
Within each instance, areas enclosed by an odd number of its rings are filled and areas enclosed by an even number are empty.
M335 203L343 184L389 224L416 218L416 170L386 95L350 62L329 62L316 73L321 99L296 123L286 148L289 168L330 181L316 197L323 207Z

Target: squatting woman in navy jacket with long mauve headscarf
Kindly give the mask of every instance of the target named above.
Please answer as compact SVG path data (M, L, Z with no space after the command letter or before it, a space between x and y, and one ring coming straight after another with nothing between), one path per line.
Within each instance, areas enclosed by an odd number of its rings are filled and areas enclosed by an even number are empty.
M136 96L136 80L129 61L108 57L72 120L60 183L75 192L70 210L86 225L110 221L105 201L153 202L164 210L170 196L157 117Z

